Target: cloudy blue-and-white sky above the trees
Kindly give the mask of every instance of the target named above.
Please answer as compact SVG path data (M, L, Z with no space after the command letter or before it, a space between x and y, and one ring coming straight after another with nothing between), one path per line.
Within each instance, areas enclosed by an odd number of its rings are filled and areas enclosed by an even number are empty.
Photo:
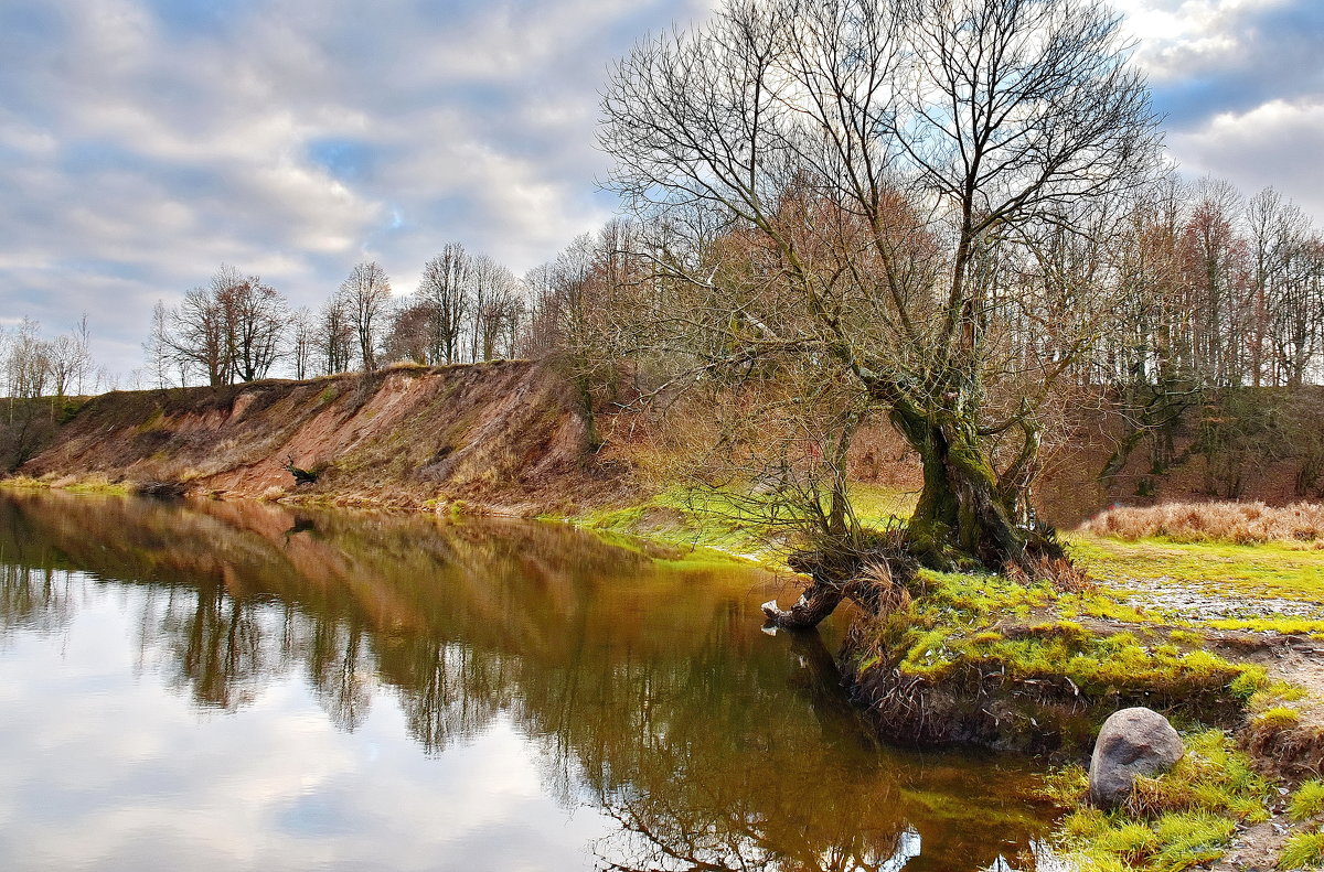
M446 242L515 273L616 210L608 65L712 0L0 0L0 326L82 314L118 386L221 265L315 308ZM1324 225L1324 3L1120 0L1169 156Z

